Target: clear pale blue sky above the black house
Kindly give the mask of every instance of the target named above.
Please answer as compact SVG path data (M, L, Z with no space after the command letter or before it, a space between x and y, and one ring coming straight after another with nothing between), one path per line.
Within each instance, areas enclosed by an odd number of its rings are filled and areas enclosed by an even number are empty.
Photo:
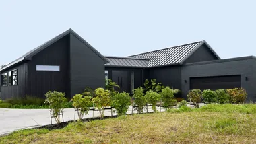
M222 58L256 55L256 1L0 1L0 65L72 28L102 55L206 40Z

